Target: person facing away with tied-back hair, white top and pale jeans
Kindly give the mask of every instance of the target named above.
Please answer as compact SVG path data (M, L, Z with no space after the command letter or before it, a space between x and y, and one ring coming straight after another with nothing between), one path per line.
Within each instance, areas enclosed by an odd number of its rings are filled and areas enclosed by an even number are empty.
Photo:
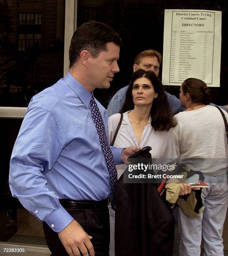
M209 104L207 85L195 78L180 87L180 103L186 108L175 115L173 129L178 163L204 173L209 188L203 188L202 216L191 219L178 209L181 233L180 256L200 256L201 236L204 255L223 255L223 224L228 205L228 143L221 113ZM223 110L222 110L223 111ZM223 111L228 119L228 113Z

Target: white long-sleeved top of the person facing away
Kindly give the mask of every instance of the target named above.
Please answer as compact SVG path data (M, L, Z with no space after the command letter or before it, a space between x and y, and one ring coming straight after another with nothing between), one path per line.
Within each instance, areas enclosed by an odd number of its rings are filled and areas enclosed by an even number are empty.
M228 113L222 110L228 120ZM222 175L228 168L228 145L222 115L207 105L175 115L173 140L178 163L206 175Z

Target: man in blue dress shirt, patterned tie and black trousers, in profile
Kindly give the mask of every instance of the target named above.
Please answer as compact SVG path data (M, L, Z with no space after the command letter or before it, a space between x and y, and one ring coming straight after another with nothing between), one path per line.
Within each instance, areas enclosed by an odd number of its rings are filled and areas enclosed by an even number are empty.
M90 100L119 72L120 46L118 33L103 23L77 28L70 71L33 97L13 148L12 195L43 221L53 256L108 255L110 174ZM108 137L107 112L95 102ZM110 148L116 163L140 149Z

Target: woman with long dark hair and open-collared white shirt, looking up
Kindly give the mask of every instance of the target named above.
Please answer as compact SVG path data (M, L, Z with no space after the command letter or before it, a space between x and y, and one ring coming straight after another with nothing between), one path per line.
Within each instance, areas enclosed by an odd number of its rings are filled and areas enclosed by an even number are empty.
M123 121L114 146L128 147L128 145L135 145L141 148L151 146L152 158L159 159L160 163L167 164L167 159L176 158L175 146L170 132L170 128L173 128L176 122L172 118L163 85L153 72L139 69L133 74L121 113L123 113ZM110 116L108 120L110 143L113 141L119 121L120 113ZM118 170L118 177L123 173L123 169L122 166L121 173ZM185 188L184 194L189 192L188 190L189 187ZM111 207L109 207L109 210L109 253L110 256L114 256L115 211Z

